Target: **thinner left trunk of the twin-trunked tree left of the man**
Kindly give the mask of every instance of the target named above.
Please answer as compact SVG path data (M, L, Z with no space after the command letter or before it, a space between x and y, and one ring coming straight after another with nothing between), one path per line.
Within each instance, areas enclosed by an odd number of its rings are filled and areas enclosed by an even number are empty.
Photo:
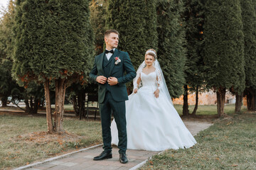
M46 120L47 120L47 130L48 132L53 132L53 120L50 112L50 88L49 88L49 80L47 79L44 83L45 89L45 98L46 98Z

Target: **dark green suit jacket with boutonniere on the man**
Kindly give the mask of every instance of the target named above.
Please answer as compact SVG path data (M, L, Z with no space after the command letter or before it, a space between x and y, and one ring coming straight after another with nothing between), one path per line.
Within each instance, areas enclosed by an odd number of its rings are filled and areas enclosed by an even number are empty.
M97 55L95 57L95 62L93 64L92 71L89 74L90 79L93 79L94 81L96 81L96 78L98 76L105 75L105 72L102 66L103 57L105 57L105 52L102 52L102 54ZM132 62L127 52L122 52L120 50L115 49L112 57L114 58L119 57L121 62L119 62L118 64L114 64L115 60L112 60L110 63L111 64L110 77L116 77L118 84L114 86L110 86L109 91L114 101L127 101L128 94L127 94L127 87L125 86L125 83L134 79L134 77L136 77L136 72L134 70L134 67L132 66ZM126 74L124 75L125 72ZM99 84L98 100L100 103L102 103L105 98L106 84Z

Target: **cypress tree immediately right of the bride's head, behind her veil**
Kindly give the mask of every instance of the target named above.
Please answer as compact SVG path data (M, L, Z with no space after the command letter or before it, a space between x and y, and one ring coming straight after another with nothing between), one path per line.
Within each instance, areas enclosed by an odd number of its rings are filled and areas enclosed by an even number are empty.
M171 97L183 94L184 65L186 62L186 40L181 14L181 0L161 0L157 4L158 58L164 72Z

